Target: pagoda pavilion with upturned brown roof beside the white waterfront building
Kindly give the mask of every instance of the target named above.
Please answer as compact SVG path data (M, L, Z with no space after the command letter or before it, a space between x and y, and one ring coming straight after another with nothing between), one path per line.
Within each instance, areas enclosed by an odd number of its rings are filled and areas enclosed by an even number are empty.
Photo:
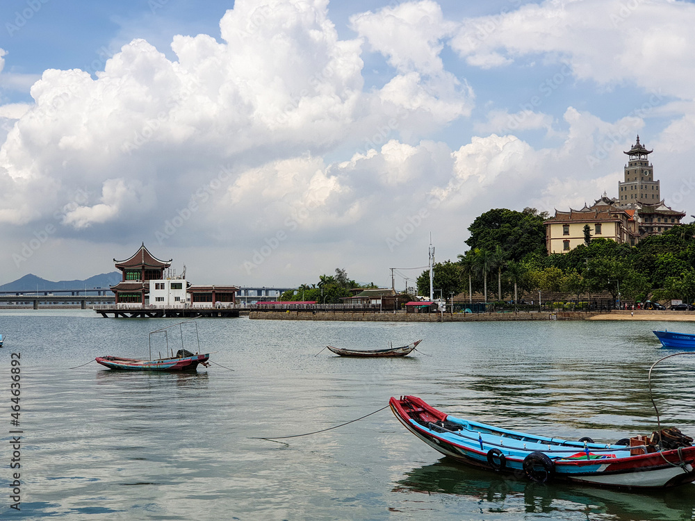
M122 280L111 291L115 294L116 304L132 303L145 306L145 297L149 295L149 281L164 278L164 270L171 266L172 259L162 261L149 253L142 243L140 249L125 261L116 261L115 266L123 274Z

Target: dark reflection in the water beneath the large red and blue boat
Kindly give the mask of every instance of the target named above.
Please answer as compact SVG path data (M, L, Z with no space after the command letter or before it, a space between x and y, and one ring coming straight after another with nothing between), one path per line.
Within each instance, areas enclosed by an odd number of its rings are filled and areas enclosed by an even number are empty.
M458 465L442 458L407 472L393 492L457 495L483 513L541 513L553 519L685 521L695 513L695 485L660 492L628 493L564 483L541 485L514 476Z

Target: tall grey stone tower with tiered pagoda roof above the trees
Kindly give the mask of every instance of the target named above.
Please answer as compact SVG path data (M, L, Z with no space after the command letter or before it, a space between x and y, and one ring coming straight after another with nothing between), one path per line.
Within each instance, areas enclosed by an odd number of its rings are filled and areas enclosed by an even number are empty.
M619 206L632 203L657 204L661 201L660 181L654 180L654 167L647 158L652 152L639 142L639 135L630 150L623 151L629 159L625 165L625 181L618 181Z

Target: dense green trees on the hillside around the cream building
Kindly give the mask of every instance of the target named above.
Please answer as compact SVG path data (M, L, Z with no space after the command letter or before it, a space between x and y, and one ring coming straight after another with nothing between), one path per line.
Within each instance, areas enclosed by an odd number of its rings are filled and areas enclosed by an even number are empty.
M577 299L599 292L621 301L695 299L695 223L648 236L635 247L585 236L568 253L547 255L546 218L533 208L497 208L477 217L468 228L471 249L459 255L464 289L481 291L486 300L517 293L523 299L539 290Z

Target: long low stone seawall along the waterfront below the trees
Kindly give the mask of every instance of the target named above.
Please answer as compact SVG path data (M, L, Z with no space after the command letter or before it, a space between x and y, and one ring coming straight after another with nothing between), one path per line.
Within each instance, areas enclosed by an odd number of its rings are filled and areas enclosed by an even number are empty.
M252 311L254 320L341 320L363 322L503 322L528 320L586 320L598 313L332 313L327 311Z

